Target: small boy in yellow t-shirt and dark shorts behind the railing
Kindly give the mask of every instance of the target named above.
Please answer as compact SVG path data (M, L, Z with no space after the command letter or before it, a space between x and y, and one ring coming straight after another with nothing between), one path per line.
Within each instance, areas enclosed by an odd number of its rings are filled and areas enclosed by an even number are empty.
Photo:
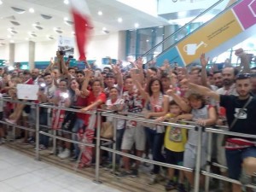
M182 113L182 109L176 102L170 102L170 113L156 120L163 121L168 118L176 118ZM177 127L168 126L165 135L166 163L183 166L183 152L187 143L187 130ZM185 192L183 185L183 172L179 171L178 183L174 181L175 169L168 168L169 181L166 184L166 191L177 188L178 192Z

